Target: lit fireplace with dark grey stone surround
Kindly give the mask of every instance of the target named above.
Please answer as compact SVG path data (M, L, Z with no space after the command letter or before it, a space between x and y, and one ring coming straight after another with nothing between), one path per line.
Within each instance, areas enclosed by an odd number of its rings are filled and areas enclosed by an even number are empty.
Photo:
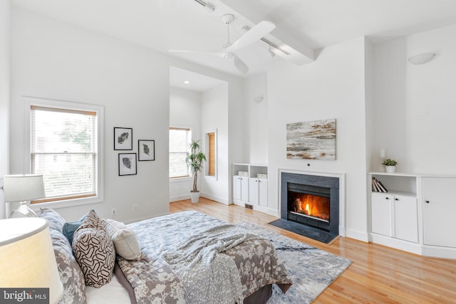
M281 172L281 219L338 235L338 178Z

